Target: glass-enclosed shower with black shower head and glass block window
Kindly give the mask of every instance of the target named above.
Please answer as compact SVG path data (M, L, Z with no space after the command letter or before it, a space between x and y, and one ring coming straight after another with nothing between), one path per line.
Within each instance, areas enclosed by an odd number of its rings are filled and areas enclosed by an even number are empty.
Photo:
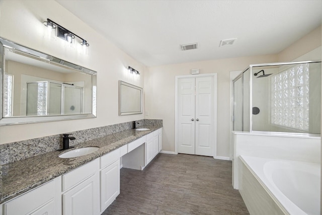
M321 61L252 64L233 80L233 130L320 134Z

